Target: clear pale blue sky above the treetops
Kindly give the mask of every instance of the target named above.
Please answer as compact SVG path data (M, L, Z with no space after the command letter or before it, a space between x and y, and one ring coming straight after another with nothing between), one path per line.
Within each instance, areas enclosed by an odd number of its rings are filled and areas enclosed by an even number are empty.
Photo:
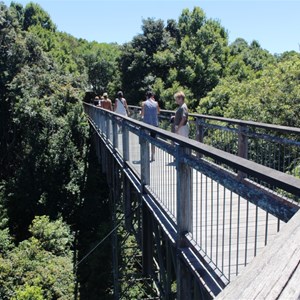
M25 5L30 1L16 0ZM58 30L89 41L128 42L143 18L177 20L184 8L201 7L228 31L229 41L257 40L271 53L299 51L300 0L36 0ZM9 5L10 1L4 1Z

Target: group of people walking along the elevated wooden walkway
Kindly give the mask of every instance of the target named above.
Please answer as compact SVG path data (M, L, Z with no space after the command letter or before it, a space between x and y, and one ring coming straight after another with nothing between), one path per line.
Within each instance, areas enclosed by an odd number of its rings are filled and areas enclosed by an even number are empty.
M181 136L189 136L189 123L188 123L188 107L185 103L185 94L180 91L174 95L178 109L175 115L171 118L172 132ZM95 97L94 104L104 109L114 111L123 116L129 115L126 99L123 97L123 92L117 93L117 98L114 103L114 109L112 108L112 101L108 98L107 93L104 93L101 98ZM152 126L158 127L158 115L160 108L158 102L155 100L155 95L152 91L146 93L146 100L142 102L141 116L142 120ZM151 133L151 136L155 138L155 134ZM155 147L151 144L151 160L155 160Z

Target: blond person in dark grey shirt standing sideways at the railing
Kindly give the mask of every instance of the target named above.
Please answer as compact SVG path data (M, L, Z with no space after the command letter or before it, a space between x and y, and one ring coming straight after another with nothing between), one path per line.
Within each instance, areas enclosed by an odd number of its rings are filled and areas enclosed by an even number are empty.
M182 91L177 92L174 95L176 104L179 106L175 112L174 117L174 132L184 136L189 137L189 123L188 123L188 116L189 111L185 101L185 95Z

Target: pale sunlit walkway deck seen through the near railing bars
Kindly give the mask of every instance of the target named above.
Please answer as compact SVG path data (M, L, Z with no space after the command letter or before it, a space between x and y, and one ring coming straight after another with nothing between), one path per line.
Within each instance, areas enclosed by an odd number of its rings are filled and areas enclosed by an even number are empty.
M140 174L138 136L130 132L129 140L129 163ZM122 154L121 134L119 151ZM174 157L156 149L155 158L150 164L150 189L176 221ZM195 247L207 254L215 268L231 281L274 239L285 223L196 170L192 178L191 233Z

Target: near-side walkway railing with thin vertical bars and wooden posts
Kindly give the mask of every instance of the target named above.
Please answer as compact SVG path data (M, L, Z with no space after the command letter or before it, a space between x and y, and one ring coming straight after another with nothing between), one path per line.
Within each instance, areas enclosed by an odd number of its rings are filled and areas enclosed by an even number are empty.
M294 176L93 105L84 108L107 147L136 174L141 193L163 209L177 246L198 253L220 288L299 209ZM149 144L156 147L152 162Z

